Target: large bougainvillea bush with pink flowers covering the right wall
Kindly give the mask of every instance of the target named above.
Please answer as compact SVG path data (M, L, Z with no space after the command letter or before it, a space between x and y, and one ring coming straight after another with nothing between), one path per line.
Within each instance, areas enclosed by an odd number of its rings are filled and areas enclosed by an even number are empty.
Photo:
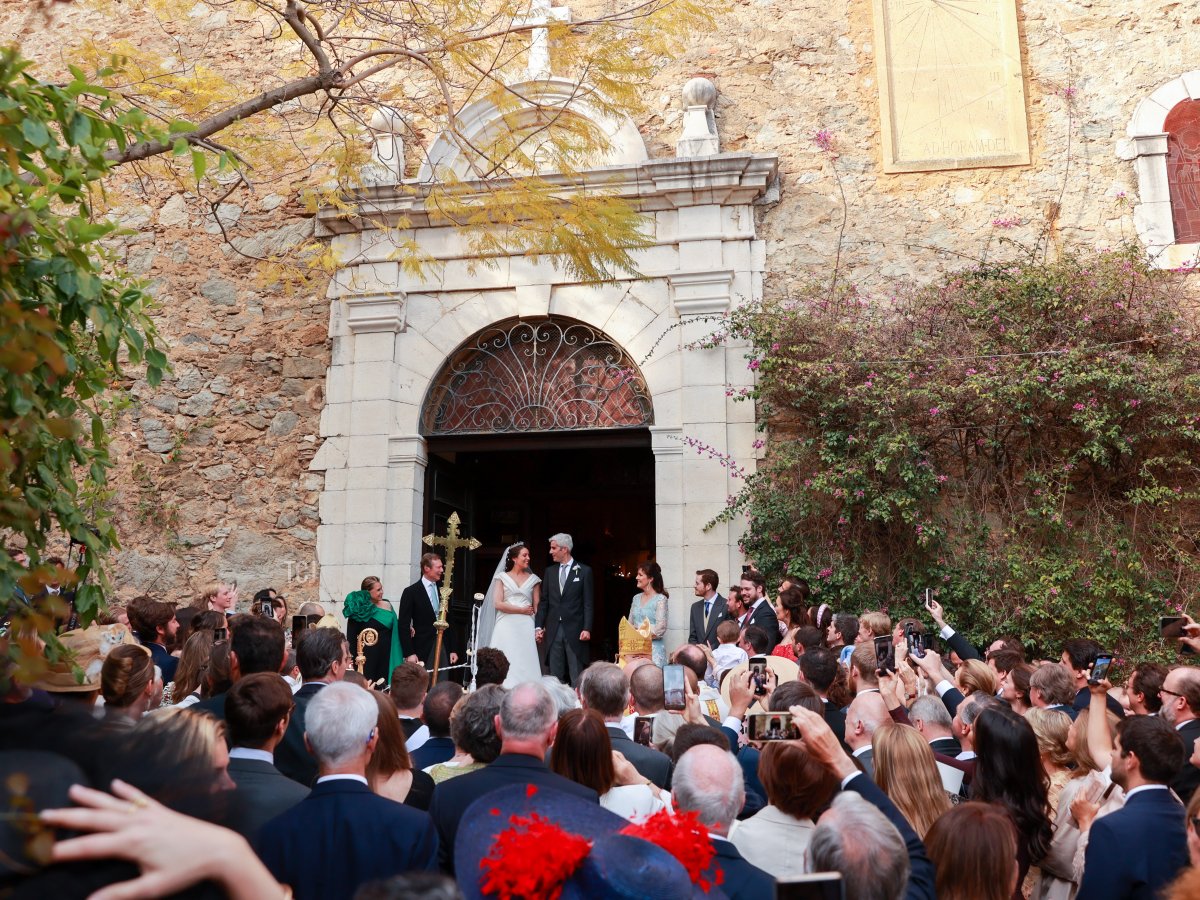
M980 265L736 311L767 457L727 516L835 608L980 640L1152 646L1200 582L1200 360L1186 276L1133 251Z

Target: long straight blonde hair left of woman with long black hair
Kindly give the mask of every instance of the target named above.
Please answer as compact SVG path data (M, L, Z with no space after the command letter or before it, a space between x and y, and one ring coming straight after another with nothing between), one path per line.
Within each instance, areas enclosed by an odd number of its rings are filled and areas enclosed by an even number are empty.
M920 838L950 809L934 751L916 728L884 722L871 738L875 782Z

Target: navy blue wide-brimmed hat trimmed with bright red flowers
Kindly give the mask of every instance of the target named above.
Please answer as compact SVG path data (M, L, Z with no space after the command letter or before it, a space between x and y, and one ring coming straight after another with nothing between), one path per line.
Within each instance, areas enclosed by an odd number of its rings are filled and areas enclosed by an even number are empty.
M716 900L725 896L716 888L704 893L694 886L683 864L661 847L618 834L629 822L599 804L550 787L538 787L530 793L527 785L510 785L470 804L458 826L455 877L467 900L487 896L481 889L484 869L480 864L492 852L500 833L514 827L515 817L528 818L534 814L592 844L592 851L563 882L564 900ZM542 848L547 856L554 851L553 846ZM540 862L545 860L515 860L524 866L538 866Z

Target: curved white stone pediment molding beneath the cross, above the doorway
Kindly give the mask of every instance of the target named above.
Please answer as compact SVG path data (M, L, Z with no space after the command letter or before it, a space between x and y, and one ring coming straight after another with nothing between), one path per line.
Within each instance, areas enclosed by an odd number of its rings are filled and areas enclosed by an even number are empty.
M502 109L490 98L469 104L457 116L461 138L445 132L439 134L421 164L418 181L431 184L451 175L473 180L475 173L464 145L482 146L512 130L535 127L546 110L580 116L600 128L608 146L590 161L589 168L636 166L649 158L637 126L628 116L618 119L604 113L589 101L589 91L575 82L551 77L511 84L505 90L518 98L517 108Z

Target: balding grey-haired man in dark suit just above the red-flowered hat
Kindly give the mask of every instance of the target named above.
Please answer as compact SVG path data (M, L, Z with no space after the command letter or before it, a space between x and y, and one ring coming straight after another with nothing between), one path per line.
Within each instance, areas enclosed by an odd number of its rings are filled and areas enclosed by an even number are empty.
M500 755L496 760L486 768L442 781L433 788L430 815L438 828L438 856L443 870L451 875L454 842L462 814L490 791L508 785L533 785L599 802L595 791L546 768L546 752L558 733L558 706L541 684L526 682L504 695L496 716L496 731L500 736Z

